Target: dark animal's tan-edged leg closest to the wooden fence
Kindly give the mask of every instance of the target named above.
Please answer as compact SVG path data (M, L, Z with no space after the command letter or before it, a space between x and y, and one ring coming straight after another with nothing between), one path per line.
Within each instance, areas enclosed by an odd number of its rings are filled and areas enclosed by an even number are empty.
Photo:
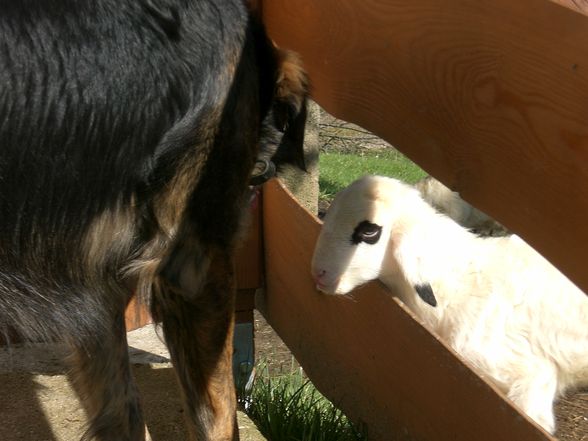
M239 435L232 373L233 265L227 253L210 255L204 282L195 292L160 278L152 309L162 322L191 438L235 441Z

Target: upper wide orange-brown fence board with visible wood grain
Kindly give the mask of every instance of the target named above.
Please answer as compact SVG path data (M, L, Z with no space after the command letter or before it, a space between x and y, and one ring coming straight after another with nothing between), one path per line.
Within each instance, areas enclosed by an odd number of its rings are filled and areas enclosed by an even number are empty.
M264 0L314 98L588 291L588 17L549 0Z

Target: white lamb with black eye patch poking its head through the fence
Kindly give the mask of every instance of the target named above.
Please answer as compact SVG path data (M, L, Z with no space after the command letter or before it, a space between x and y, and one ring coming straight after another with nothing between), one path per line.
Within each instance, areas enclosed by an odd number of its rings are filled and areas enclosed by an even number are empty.
M336 196L312 275L328 294L381 279L550 433L554 399L588 384L588 297L519 237L478 237L395 179Z

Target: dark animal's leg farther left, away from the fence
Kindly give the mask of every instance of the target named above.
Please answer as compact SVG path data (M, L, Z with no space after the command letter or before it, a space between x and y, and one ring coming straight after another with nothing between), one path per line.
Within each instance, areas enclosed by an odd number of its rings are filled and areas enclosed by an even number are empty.
M96 329L91 340L72 344L72 380L90 420L84 440L145 440L129 365L123 306L111 322Z

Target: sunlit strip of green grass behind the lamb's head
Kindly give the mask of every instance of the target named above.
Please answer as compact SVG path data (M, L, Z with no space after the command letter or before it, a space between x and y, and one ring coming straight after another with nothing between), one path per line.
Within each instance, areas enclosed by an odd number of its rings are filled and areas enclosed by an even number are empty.
M393 149L360 153L322 152L319 157L321 197L334 195L363 175L383 175L414 184L427 174Z

